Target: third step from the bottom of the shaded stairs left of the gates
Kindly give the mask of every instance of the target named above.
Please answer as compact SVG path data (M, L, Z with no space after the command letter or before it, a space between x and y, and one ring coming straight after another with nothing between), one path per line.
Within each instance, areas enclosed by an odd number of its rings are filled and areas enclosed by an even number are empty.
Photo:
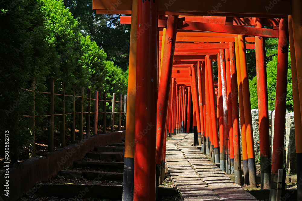
M73 162L73 166L76 168L90 168L92 170L122 171L124 169L124 162L75 161Z

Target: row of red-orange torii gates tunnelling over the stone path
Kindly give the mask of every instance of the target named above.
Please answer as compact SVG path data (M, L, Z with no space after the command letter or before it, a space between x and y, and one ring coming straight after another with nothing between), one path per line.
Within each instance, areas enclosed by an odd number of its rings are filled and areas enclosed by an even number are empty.
M302 85L298 81L302 77L302 71L298 70L302 68L302 1L93 0L93 9L96 14L131 14L131 17L120 17L121 23L131 24L123 200L156 199L167 133L180 132L182 124L187 125L184 127L188 132L191 97L194 145L202 145L203 152L210 153L212 161L220 163L223 171L234 170L237 184L256 186L247 48L255 48L256 52L261 187L270 189L271 200L279 200L288 43L298 200L302 200L299 185L302 181ZM272 156L265 37L278 38ZM213 61L218 63L216 95ZM244 181L241 181L241 149Z

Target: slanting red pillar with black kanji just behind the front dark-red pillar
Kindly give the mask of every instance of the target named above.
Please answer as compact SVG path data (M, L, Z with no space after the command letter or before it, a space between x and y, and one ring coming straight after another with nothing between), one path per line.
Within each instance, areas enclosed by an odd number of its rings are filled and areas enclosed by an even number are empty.
M165 39L163 40L164 47L162 50L162 65L159 80L159 90L157 96L157 114L156 114L156 180L159 181L159 174L162 169L162 150L165 141L166 133L166 120L169 103L169 94L171 88L171 76L173 68L173 58L176 41L178 16L170 15L167 19L167 28L165 33ZM170 40L172 39L172 40ZM158 186L158 182L156 185Z

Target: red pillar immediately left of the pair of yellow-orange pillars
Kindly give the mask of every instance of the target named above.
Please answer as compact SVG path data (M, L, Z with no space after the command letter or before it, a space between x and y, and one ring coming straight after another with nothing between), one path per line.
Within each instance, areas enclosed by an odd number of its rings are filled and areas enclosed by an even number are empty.
M243 185L241 177L241 152L240 152L240 130L239 130L239 109L238 89L236 75L235 43L230 42L230 73L231 73L231 96L232 96L232 117L233 117L233 140L234 140L234 174L235 183Z

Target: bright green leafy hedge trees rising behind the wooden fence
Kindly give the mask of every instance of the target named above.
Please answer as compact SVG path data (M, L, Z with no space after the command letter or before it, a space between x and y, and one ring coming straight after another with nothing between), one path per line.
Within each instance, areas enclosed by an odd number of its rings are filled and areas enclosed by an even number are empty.
M127 93L127 75L112 62L90 36L82 36L78 21L57 0L0 1L0 124L12 133L11 146L24 146L30 138L29 118L22 115L42 115L36 118L36 130L46 124L48 79L55 82L55 93L60 92L59 82L65 83L65 94L76 95L82 88L92 91L106 90L108 94ZM35 81L35 111L32 81ZM100 96L101 97L101 96ZM66 113L71 98L66 97ZM55 96L55 104L61 102ZM59 114L59 107L55 107ZM66 123L71 121L66 116ZM55 118L55 127L59 126ZM3 136L0 137L0 147ZM1 148L1 150L4 150Z

